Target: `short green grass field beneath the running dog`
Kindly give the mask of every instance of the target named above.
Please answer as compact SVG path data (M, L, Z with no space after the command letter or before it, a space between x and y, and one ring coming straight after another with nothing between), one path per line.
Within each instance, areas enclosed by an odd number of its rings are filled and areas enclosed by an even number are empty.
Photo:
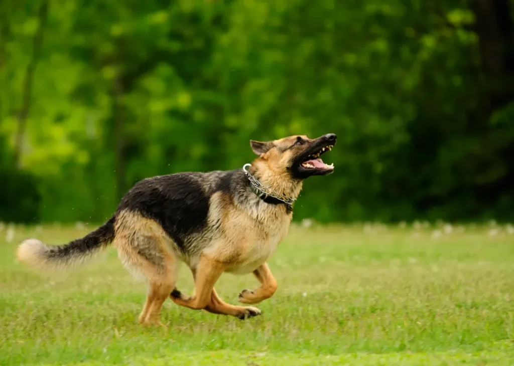
M87 229L4 227L0 364L514 364L514 235L434 230L292 227L269 260L279 290L258 305L262 316L241 321L169 300L164 330L137 324L145 288L113 249L58 278L15 262L26 237L62 243ZM237 303L255 285L223 275L216 288ZM178 287L192 291L185 266Z

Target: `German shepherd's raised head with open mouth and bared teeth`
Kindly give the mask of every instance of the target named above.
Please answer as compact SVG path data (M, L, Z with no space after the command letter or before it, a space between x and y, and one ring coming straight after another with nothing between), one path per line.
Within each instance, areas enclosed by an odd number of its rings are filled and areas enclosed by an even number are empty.
M259 165L265 165L276 173L287 173L293 179L310 176L326 176L334 171L334 165L327 165L320 156L336 144L334 133L317 139L307 136L290 136L275 141L250 141L254 153L259 155Z

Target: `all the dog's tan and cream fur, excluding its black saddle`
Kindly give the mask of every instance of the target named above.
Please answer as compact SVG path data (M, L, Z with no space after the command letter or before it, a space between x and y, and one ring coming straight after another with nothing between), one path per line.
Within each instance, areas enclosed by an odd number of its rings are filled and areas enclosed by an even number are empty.
M305 146L295 144L297 136L271 142L252 141L252 149L259 157L251 164L251 174L266 187L296 199L302 189L302 180L293 179L288 169L292 160L314 141L306 136L302 138ZM242 194L244 199L237 199L223 189L214 190L222 174L215 171L208 177L191 175L200 184L199 189L213 193L209 196L205 227L188 234L184 239L187 242L180 243L180 247L161 224L130 209L120 209L113 217L114 236L112 230L111 234L106 229L102 231L113 240L128 271L148 284L140 323L160 324L159 313L168 297L178 305L214 314L240 318L261 314L256 307L230 305L219 298L214 285L224 272L253 273L260 282L255 290L243 290L239 294L238 300L242 303L259 303L277 291L277 281L266 261L287 235L292 213L285 205L266 203L249 190ZM112 228L113 225L105 227ZM20 245L17 257L33 266L43 266L47 263L42 263L44 256L41 253L48 250L46 244L31 239ZM60 260L67 265L71 259L80 260L79 257ZM185 262L193 274L195 292L192 296L181 294L175 287L179 261Z

